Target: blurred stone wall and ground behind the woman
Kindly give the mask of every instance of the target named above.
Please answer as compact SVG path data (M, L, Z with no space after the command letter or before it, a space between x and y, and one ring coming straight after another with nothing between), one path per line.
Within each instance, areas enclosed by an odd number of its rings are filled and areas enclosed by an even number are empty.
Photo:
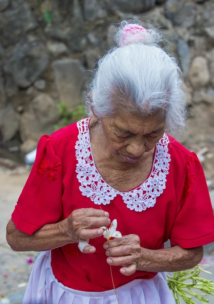
M122 19L158 27L178 58L189 111L178 139L197 153L214 204L214 0L0 0L0 303L21 303L35 259L5 240L29 174L24 157L84 116L92 71Z

